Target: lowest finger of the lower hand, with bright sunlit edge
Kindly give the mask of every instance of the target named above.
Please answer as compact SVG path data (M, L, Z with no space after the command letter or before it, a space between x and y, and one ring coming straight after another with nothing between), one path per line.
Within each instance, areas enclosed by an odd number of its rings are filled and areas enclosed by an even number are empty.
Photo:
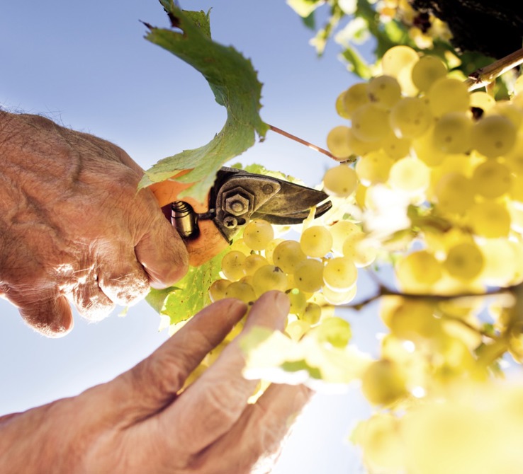
M255 472L271 472L283 440L312 395L313 391L302 385L271 385L257 403L248 405L224 437L198 456L198 466L206 466L206 473L253 472L251 466L257 466Z

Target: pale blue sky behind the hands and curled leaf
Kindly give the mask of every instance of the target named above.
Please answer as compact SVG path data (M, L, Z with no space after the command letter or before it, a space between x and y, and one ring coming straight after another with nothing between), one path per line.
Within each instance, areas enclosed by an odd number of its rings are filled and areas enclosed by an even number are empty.
M342 123L334 100L356 80L337 60L335 45L318 59L308 45L312 33L283 0L182 0L181 6L212 6L214 39L252 59L264 83L266 122L325 146L327 132ZM196 71L143 39L140 20L168 26L156 0L4 2L0 104L113 141L143 168L206 144L223 126L225 110ZM325 156L271 132L237 161L261 163L308 185L319 183L332 166ZM0 301L0 413L107 381L167 338L145 303L125 318L117 314L98 324L76 316L71 334L47 340ZM357 472L356 454L342 438L364 410L354 394L322 396L305 412L303 429L274 473Z

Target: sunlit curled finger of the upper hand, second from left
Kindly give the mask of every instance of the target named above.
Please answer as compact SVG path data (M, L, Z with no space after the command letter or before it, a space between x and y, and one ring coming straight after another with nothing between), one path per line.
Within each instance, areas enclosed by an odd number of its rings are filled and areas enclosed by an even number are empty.
M99 287L94 275L89 275L85 282L78 283L72 290L71 298L80 316L91 321L106 318L115 307L113 301Z

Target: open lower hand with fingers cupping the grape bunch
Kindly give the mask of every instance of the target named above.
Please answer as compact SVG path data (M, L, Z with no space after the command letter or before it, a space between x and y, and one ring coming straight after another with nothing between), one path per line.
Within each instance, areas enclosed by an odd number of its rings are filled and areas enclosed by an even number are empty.
M257 382L242 377L244 357L236 338L177 395L245 311L238 300L218 301L113 381L0 418L0 472L269 472L267 461L275 458L307 402L308 388L273 385L248 405ZM252 306L239 337L254 325L282 329L287 312L284 294L264 294Z

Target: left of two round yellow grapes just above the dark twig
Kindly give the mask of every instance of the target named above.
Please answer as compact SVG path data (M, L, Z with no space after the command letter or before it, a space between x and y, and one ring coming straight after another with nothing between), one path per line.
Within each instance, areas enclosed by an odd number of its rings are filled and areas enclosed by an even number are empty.
M429 250L417 250L398 260L395 274L405 291L424 292L442 277L442 264Z

